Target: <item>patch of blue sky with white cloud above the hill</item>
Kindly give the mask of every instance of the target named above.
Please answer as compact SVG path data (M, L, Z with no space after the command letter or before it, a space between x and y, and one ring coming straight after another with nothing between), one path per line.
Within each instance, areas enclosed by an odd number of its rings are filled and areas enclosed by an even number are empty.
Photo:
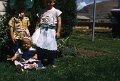
M103 2L103 1L110 1L110 0L96 0L96 3ZM76 0L77 10L81 10L85 6L94 3L94 0Z

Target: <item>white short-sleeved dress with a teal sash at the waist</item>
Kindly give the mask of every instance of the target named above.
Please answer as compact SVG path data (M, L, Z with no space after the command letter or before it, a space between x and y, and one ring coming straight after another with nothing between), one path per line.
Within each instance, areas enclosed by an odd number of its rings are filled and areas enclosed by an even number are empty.
M54 27L56 27L57 17L60 16L61 13L60 10L53 7L41 15L40 24L42 26L32 35L32 41L36 46L47 50L57 50L56 29ZM47 28L46 25L48 26ZM51 26L53 28L51 28Z

